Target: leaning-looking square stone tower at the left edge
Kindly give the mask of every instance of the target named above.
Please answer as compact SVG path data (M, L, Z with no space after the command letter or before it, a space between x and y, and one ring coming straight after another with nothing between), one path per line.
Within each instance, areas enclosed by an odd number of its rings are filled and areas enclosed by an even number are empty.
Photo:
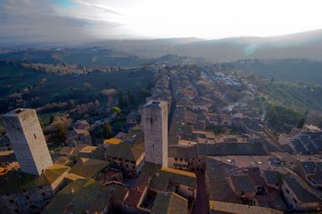
M3 119L21 171L39 176L53 165L34 109L16 109L4 114Z

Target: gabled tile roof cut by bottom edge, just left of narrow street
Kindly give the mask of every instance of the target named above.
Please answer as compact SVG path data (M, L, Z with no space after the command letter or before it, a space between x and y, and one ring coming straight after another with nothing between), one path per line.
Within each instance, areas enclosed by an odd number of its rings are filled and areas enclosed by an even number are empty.
M158 193L151 214L186 214L188 201L177 193Z

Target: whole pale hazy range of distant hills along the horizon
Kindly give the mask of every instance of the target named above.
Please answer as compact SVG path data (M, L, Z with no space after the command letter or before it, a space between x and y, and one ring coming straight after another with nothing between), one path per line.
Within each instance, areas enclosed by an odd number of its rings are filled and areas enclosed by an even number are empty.
M322 29L280 37L232 37L215 40L169 38L152 40L107 40L97 45L144 57L178 54L214 61L238 59L308 58L322 60Z

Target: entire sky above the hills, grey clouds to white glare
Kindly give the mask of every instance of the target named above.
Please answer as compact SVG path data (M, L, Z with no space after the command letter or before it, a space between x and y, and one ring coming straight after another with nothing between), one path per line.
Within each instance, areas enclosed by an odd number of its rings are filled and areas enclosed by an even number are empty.
M1 0L0 38L240 37L322 29L321 0Z

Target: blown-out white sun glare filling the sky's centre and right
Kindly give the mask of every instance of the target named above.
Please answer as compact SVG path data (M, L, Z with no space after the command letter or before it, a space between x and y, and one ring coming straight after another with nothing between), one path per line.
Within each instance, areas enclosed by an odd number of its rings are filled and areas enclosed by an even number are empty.
M319 1L137 1L119 21L142 37L268 37L322 28Z

